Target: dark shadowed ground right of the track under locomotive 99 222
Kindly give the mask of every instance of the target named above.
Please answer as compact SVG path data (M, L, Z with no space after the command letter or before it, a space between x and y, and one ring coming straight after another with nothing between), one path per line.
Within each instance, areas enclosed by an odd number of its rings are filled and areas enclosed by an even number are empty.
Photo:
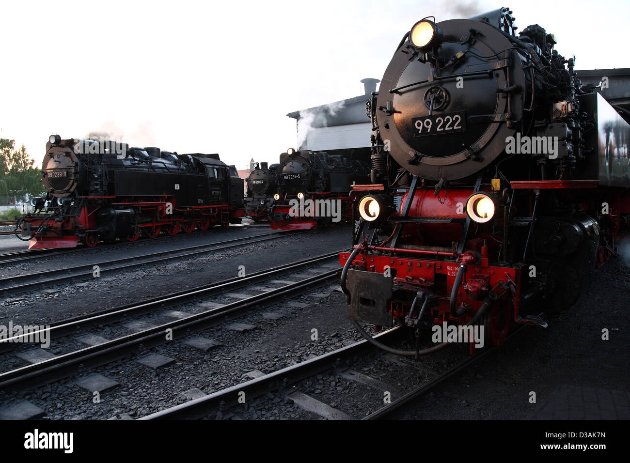
M630 268L621 259L610 261L595 273L590 290L553 317L549 328L517 333L398 418L630 418L629 299ZM602 329L609 340L602 340Z

